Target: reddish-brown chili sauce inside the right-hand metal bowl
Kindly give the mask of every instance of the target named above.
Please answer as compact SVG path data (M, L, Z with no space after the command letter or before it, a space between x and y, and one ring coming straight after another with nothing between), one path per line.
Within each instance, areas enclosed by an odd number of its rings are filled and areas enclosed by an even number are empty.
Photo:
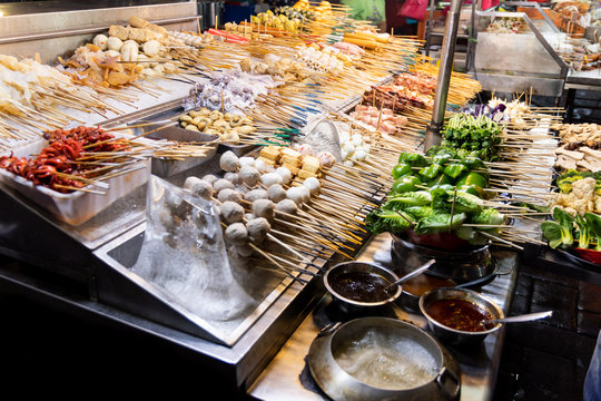
M481 332L494 327L494 323L481 324L482 321L494 319L489 312L475 303L465 300L440 300L427 307L427 313L436 322L455 330Z

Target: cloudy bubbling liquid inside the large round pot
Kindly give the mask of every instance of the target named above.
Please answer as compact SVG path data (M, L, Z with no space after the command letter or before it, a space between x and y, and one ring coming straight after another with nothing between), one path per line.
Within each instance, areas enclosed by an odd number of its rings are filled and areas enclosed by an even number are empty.
M432 381L440 366L420 343L393 332L367 330L336 350L338 365L356 380L378 389L405 390Z

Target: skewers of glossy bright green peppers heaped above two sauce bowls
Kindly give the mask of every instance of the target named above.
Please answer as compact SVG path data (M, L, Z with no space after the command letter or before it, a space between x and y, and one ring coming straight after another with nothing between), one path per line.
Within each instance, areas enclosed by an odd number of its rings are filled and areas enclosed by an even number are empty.
M376 234L411 233L432 242L445 233L456 239L454 247L493 244L523 250L523 243L540 243L511 223L522 211L495 190L492 176L482 159L451 148L401 153L388 177L394 184L387 199L371 213L367 226Z

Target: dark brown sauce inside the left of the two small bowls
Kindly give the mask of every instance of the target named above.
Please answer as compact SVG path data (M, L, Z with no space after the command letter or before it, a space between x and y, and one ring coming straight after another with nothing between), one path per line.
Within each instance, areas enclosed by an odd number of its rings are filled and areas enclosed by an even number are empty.
M390 299L395 288L390 292L384 288L391 283L380 274L370 272L348 272L336 276L329 283L338 295L357 302L382 302Z

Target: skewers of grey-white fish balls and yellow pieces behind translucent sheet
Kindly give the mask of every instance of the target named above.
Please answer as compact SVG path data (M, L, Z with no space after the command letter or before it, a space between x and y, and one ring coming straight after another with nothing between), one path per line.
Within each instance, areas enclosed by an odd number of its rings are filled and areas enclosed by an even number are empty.
M303 282L299 274L319 273L317 260L353 257L374 198L387 190L326 153L266 146L257 156L226 151L219 165L223 176L188 177L184 187L218 206L230 262L253 258Z

